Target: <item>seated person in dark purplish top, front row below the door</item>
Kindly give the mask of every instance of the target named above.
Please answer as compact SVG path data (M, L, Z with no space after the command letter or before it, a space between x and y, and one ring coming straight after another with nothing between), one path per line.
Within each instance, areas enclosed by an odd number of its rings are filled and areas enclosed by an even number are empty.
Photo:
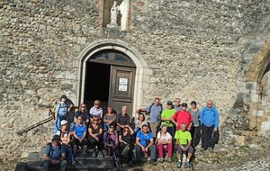
M106 132L104 132L103 135L103 142L105 149L109 156L112 156L112 152L114 151L116 153L116 156L118 156L118 133L115 131L114 125L110 125L110 129Z

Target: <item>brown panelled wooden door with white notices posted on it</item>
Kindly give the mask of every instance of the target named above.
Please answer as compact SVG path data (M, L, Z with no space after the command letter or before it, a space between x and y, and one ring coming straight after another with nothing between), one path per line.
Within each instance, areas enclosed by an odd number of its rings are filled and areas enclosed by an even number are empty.
M135 68L112 66L111 69L109 105L117 113L121 112L123 105L126 105L131 118Z

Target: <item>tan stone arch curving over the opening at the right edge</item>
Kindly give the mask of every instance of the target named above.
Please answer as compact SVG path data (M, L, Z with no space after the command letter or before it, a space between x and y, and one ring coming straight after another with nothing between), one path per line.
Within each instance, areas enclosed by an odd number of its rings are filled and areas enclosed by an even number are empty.
M252 59L245 77L246 82L260 83L262 77L266 74L266 69L270 63L270 40L267 41L263 48Z

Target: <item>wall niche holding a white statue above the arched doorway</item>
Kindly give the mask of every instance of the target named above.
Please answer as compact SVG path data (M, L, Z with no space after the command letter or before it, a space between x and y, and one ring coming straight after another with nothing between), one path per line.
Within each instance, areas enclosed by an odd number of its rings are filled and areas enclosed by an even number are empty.
M127 31L130 23L130 0L100 0L99 23L103 28Z

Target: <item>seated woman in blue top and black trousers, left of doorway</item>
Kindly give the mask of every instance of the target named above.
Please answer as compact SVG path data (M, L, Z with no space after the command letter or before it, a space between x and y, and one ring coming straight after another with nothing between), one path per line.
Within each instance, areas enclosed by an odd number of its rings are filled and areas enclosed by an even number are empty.
M73 136L74 136L74 146L73 146L73 152L74 155L76 155L76 148L77 146L83 146L84 152L83 157L86 156L86 150L87 150L87 139L85 139L86 136L86 126L83 122L82 116L78 116L76 118L76 123L74 125L73 130Z

